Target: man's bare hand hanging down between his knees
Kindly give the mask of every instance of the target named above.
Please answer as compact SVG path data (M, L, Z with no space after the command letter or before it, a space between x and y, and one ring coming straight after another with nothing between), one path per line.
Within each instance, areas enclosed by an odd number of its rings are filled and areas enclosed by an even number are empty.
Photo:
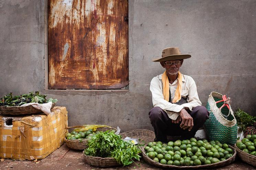
M182 128L184 130L188 129L188 131L190 131L193 128L193 126L194 126L193 118L188 114L187 110L185 110L184 108L180 111L180 115L178 118L179 118L179 120L180 119L182 120L180 123L180 128Z

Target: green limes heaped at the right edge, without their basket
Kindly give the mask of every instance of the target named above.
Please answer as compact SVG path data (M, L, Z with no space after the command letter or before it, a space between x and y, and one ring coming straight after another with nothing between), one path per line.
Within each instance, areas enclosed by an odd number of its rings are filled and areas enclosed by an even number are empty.
M248 134L246 138L242 139L242 142L236 142L236 146L242 151L256 156L256 134Z

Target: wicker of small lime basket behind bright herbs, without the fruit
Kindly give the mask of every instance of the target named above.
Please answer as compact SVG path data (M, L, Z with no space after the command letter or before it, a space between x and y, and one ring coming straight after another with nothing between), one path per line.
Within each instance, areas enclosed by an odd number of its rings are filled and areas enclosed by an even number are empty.
M108 128L108 127L103 127L103 128L98 128L96 129L96 131L101 131L101 132L105 132L107 130L114 130L116 132L116 129L115 128ZM81 149L85 149L88 147L88 140L89 139L76 139L76 140L67 140L65 138L65 142L66 142L66 145L71 148L71 149L78 149L78 150L81 150Z

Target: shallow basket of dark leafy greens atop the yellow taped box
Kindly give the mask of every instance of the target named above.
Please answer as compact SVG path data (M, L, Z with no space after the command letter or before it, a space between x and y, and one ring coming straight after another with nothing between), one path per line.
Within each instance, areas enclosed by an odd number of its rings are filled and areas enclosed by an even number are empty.
M0 99L0 113L7 115L25 115L42 113L41 110L34 108L33 106L22 106L27 103L39 103L44 104L52 102L53 108L58 100L57 99L46 99L46 95L39 94L38 91L30 92L29 94L13 95L9 93Z

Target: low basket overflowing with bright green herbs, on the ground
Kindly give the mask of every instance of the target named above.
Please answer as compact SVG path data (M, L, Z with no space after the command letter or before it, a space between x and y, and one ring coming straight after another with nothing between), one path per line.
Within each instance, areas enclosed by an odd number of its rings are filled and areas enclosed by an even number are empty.
M140 148L114 132L99 132L88 141L83 155L87 164L97 167L126 166L140 160Z

